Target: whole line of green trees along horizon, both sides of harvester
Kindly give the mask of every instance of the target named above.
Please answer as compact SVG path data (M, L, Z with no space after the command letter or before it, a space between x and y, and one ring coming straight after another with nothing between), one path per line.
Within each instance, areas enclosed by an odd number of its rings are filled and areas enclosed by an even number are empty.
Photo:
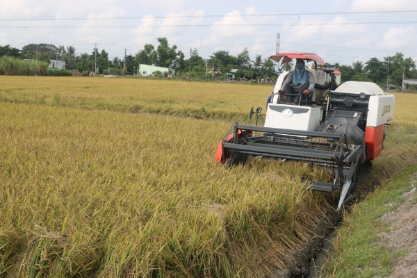
M245 48L236 56L229 51L219 50L213 52L208 58L199 56L197 49L191 50L190 58L186 59L183 51L177 45L168 43L167 38L157 38L158 45L145 44L143 49L135 55L126 56L126 70L124 70L124 58L109 58L105 49L92 49L88 53L76 53L73 46L54 44L28 44L22 49L0 46L1 56L12 56L29 60L41 60L49 63L50 60L65 60L67 68L79 72L94 72L97 56L98 73L111 74L135 74L141 64L168 67L176 70L178 74L190 74L194 78L204 79L206 73L214 72L216 78L225 73L234 71L236 78L262 79L265 77L276 77L279 72L275 71L274 63L270 58L262 58L256 55L254 60L250 59L249 51ZM341 65L336 63L336 69L342 73L342 82L345 81L370 81L381 87L388 83L393 85L402 84L402 75L406 79L417 79L416 61L412 58L404 58L404 54L398 52L393 56L384 57L383 60L370 58L366 63L361 61L353 62L352 65ZM280 71L290 71L293 65L286 63L281 65ZM140 71L139 71L140 72Z

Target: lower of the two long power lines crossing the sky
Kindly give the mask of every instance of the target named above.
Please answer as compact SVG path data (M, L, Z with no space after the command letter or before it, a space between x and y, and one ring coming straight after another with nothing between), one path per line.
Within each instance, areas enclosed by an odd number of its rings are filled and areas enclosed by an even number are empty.
M191 27L257 27L257 26L352 26L352 25L383 25L383 24L416 24L417 22L311 22L311 23L277 23L277 24L178 24L178 25L54 25L54 26L7 26L3 25L0 28L154 28L154 27L168 27L168 28L191 28Z

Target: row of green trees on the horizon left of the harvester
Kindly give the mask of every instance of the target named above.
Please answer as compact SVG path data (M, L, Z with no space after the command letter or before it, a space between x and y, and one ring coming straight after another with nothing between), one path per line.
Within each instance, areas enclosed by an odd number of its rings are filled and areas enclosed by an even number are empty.
M205 78L206 72L214 72L216 78L222 74L237 69L234 72L237 78L247 79L273 77L277 75L274 63L269 58L262 59L257 55L255 60L250 60L249 51L245 48L237 56L232 56L229 51L215 51L209 58L199 56L197 49L192 49L190 58L186 59L183 51L177 45L168 43L167 38L158 38L158 45L145 44L143 49L134 56L126 56L126 69L124 70L124 57L110 58L105 49L92 49L91 53L76 53L73 46L54 44L28 44L22 49L0 46L1 56L12 56L28 60L41 60L50 63L50 60L65 60L67 68L79 72L94 72L97 63L99 74L135 74L141 64L168 67L176 70L178 74L188 74L190 68L195 78ZM97 57L97 62L96 62Z

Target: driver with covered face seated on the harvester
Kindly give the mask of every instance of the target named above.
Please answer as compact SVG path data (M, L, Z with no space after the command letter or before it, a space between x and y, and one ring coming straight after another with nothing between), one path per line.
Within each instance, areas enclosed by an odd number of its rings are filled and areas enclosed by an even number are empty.
M293 95L309 95L313 92L313 88L316 83L314 82L314 76L311 72L306 71L306 63L304 60L297 59L295 63L295 69L288 74L286 81L282 83L279 94L285 94L286 104L295 105L299 102L299 98Z

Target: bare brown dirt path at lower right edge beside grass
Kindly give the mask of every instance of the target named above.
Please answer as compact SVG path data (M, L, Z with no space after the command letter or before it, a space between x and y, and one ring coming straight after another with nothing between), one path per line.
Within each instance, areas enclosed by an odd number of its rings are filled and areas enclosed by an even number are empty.
M395 268L389 277L417 277L417 172L411 177L413 189L404 193L406 201L395 211L381 216L391 231L382 234L382 238L394 251L408 250L407 254L395 262ZM389 203L386 206L393 206Z

